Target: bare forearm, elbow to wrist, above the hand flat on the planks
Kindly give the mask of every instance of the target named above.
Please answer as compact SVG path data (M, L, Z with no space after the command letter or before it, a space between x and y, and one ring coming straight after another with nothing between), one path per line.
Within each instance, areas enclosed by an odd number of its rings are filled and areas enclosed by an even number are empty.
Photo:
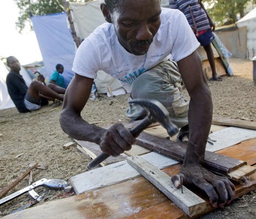
M189 144L184 165L202 163L212 123L212 98L207 85L198 88L189 104Z

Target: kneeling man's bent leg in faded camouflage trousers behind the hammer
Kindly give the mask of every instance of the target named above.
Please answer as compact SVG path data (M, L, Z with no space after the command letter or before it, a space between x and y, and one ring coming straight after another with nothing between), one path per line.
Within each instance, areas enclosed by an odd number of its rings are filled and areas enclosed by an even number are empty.
M176 65L171 61L158 64L158 66L139 75L131 86L131 99L155 99L168 110L171 121L188 135L188 109L189 102L184 99L180 90L182 79ZM142 119L147 115L138 104L130 104L126 115L131 120Z

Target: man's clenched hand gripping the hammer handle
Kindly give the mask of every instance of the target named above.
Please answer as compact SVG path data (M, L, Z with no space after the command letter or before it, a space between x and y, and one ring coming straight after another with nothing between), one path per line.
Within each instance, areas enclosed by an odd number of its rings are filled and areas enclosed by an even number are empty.
M135 138L121 123L110 127L102 136L100 147L104 153L117 157L120 153L131 149Z

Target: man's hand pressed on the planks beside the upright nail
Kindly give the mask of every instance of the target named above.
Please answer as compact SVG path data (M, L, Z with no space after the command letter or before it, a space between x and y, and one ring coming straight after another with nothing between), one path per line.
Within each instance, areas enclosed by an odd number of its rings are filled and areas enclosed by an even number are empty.
M181 187L181 178L183 184L194 184L205 191L213 208L224 208L235 196L235 186L228 178L214 175L200 164L187 164L178 175L172 176L176 188Z

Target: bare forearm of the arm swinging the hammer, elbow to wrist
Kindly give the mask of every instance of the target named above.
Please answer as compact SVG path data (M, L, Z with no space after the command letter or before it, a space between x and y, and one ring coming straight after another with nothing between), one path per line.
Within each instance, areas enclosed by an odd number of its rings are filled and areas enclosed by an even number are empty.
M82 116L71 111L62 111L60 116L62 130L76 140L86 140L100 144L101 137L106 129L90 125Z

